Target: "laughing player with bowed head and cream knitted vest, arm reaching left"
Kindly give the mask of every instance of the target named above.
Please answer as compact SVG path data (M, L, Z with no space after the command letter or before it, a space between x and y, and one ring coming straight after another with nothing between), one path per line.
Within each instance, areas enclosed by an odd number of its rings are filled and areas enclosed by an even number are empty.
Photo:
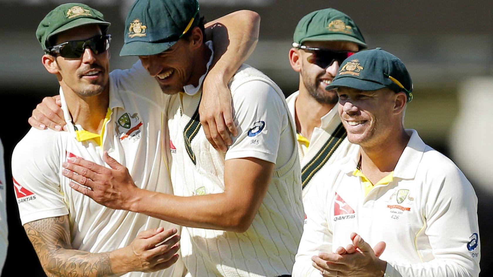
M195 0L137 0L126 24L141 19L147 35L133 38L127 31L121 51L138 55L172 95L168 156L175 195L136 186L109 156L112 169L75 158L64 175L91 188L72 183L107 207L185 226L188 276L290 276L303 225L293 121L279 87L243 65L229 83L239 136L226 153L210 145L198 107L214 47L204 41L198 14ZM191 33L183 37L175 26L187 22Z

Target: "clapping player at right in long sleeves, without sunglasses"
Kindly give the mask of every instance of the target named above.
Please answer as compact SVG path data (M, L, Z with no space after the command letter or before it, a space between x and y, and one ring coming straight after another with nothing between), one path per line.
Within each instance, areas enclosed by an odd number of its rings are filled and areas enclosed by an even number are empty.
M478 277L476 195L450 159L404 129L413 85L402 61L358 52L327 89L359 151L314 180L293 276Z

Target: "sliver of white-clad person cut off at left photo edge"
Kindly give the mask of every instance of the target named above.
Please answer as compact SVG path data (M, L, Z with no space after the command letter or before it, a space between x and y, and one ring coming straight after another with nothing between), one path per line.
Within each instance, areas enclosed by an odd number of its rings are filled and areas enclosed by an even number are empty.
M7 257L8 227L5 199L5 166L3 165L3 144L0 139L0 272Z

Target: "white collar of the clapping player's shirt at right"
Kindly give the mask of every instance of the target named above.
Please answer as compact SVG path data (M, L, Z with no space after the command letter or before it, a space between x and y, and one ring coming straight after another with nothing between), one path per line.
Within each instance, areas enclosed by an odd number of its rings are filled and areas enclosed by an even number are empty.
M418 171L418 166L423 158L426 144L418 135L418 132L413 129L406 129L406 133L411 137L404 148L397 165L393 171L394 178L413 179ZM348 157L346 161L342 161L341 170L344 173L352 174L359 162L360 151L355 152Z

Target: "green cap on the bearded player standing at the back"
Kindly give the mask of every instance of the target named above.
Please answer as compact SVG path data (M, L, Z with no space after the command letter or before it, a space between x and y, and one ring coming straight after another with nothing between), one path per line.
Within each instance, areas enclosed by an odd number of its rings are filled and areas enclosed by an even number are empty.
M293 41L303 44L305 41L350 41L365 49L365 38L351 17L336 9L328 8L305 15L294 30Z

